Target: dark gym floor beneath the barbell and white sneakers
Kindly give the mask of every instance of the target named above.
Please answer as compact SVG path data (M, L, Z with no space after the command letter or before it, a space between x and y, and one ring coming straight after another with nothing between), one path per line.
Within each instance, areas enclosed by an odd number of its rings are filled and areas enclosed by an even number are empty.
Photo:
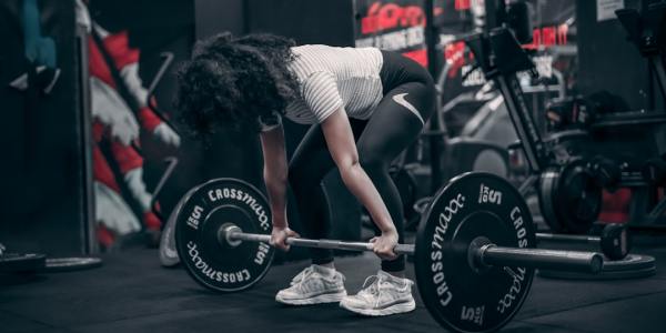
M638 240L637 243L643 243ZM662 246L655 246L664 244ZM665 332L666 242L634 253L657 258L657 274L625 281L535 278L527 301L503 332ZM100 269L24 279L3 276L0 331L13 332L441 332L421 301L415 312L361 317L336 304L282 306L273 301L306 262L275 265L258 285L233 294L200 287L182 269L163 269L155 250L103 256ZM376 272L372 254L341 258L350 292ZM413 278L413 272L410 272Z

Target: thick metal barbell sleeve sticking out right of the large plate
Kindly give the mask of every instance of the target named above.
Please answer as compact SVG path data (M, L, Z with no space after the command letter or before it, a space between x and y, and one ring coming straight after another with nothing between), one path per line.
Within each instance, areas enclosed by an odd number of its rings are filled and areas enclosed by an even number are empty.
M604 268L604 258L595 252L503 248L494 244L485 244L471 251L474 251L476 262L487 266L523 266L583 273L598 273Z

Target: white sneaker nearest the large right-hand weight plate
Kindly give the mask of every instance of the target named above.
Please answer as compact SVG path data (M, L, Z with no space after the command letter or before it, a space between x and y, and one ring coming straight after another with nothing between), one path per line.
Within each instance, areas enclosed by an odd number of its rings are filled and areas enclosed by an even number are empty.
M414 282L408 279L380 271L377 275L365 279L363 290L357 294L342 299L340 306L351 312L373 316L410 312L416 307L412 296L413 284Z

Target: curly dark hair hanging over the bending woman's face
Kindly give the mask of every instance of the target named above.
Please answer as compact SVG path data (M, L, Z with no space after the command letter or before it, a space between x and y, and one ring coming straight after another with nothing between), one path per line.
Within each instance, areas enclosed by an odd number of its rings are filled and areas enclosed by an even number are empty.
M260 120L274 123L275 112L284 114L299 93L289 70L294 44L273 34L231 33L198 42L176 72L180 120L200 138L220 128L259 131Z

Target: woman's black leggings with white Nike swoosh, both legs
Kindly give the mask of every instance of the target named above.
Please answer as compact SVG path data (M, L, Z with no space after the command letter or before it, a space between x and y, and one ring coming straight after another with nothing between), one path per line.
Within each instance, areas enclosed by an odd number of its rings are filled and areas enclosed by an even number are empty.
M360 163L389 209L397 229L398 242L403 242L403 205L389 167L418 137L435 108L435 88L431 75L416 62L392 52L382 52L382 56L384 62L380 77L384 97L370 119L350 119L350 123ZM321 125L315 124L303 138L289 167L290 185L307 238L329 238L331 223L321 182L333 168L335 163ZM311 249L311 255L315 264L333 261L331 250ZM387 272L404 268L404 255L382 262L382 270Z

